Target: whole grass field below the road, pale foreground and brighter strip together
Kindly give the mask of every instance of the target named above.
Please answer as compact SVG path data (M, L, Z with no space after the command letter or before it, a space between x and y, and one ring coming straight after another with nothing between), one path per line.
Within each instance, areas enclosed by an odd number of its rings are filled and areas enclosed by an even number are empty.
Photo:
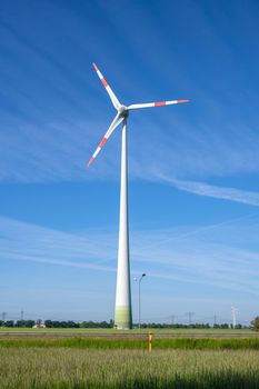
M258 389L259 337L0 337L1 389Z

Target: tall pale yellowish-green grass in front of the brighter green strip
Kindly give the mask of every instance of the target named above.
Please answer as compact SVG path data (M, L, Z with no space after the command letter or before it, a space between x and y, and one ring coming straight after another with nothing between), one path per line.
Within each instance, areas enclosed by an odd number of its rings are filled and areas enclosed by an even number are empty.
M1 348L1 389L252 389L252 350L97 350Z

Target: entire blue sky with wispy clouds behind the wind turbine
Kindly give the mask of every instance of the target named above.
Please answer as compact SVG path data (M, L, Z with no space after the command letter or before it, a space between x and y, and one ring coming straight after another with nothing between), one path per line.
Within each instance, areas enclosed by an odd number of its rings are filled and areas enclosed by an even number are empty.
M132 112L133 318L248 323L258 313L257 1L9 1L0 10L0 311L113 317L120 176Z

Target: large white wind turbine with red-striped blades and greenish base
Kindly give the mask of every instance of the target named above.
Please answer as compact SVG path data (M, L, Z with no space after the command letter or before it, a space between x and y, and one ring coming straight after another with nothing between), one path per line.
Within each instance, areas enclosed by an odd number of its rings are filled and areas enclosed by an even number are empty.
M127 119L130 111L150 107L161 107L188 102L189 100L171 100L157 101L148 103L138 103L123 106L120 103L114 92L108 84L107 80L93 62L93 68L106 88L111 102L117 110L117 114L108 128L104 137L100 141L98 148L93 152L88 162L88 167L97 158L107 140L110 138L114 129L122 123L122 143L121 143L121 180L120 180L120 225L119 225L119 248L118 248L118 269L117 269L117 289L116 289L116 312L114 328L131 329L132 311L131 311L131 292L130 292L130 257L129 257L129 220L128 220L128 156L127 156Z

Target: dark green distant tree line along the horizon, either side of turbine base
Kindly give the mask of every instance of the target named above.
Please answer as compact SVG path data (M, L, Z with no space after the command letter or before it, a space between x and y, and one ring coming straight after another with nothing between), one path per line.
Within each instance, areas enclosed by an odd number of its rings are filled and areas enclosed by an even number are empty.
M256 320L257 319L257 320ZM255 328L259 329L259 318L256 318L251 325ZM2 321L0 320L0 327L7 327L7 328L31 328L37 323L42 323L42 320L7 320ZM44 326L47 328L113 328L113 320L110 321L82 321L82 322L76 322L72 320L46 320ZM256 326L255 326L256 325ZM257 327L258 326L258 327ZM138 328L138 325L133 325L133 328ZM182 323L159 323L159 322L150 322L150 323L141 323L141 328L160 328L160 329L181 329L181 328L193 328L193 329L208 329L208 328L215 328L215 329L231 329L232 325L222 323L222 325L213 325L210 326L209 323L191 323L191 325L182 325ZM236 329L242 329L247 328L242 325L237 325Z

